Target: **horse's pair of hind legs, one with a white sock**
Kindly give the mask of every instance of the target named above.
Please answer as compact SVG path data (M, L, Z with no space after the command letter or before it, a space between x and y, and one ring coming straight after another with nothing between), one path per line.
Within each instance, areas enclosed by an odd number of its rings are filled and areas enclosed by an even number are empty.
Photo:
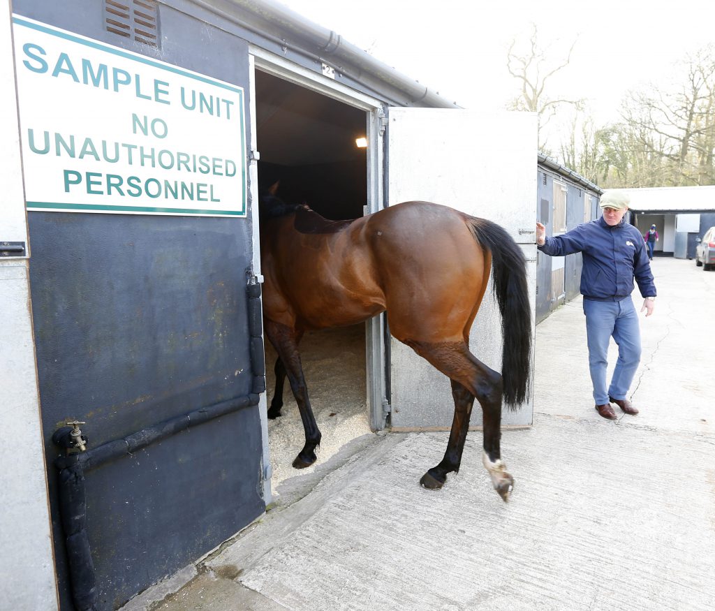
M443 486L450 471L458 471L471 407L473 399L476 398L483 411L482 461L489 472L494 489L503 500L508 500L514 480L501 459L501 375L470 353L463 341L409 345L450 378L455 399L455 416L445 457L440 464L425 473L420 484L425 488L438 489Z

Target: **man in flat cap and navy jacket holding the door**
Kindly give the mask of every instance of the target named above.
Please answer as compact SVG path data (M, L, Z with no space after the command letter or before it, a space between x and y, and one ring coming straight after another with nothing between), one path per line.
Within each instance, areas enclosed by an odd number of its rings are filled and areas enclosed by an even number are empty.
M633 225L623 223L630 202L622 191L606 191L601 195L601 218L556 238L547 238L546 228L536 223L536 244L542 253L559 257L583 253L581 294L593 399L598 414L611 420L616 419L611 403L626 414L638 414L626 398L641 361L641 331L631 299L633 278L645 298L641 312L647 311L646 316L653 313L656 299L643 236ZM618 344L618 361L611 384L606 387L611 336Z

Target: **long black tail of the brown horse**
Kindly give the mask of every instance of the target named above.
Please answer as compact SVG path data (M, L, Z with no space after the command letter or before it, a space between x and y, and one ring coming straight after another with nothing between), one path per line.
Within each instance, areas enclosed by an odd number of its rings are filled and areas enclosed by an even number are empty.
M483 218L470 217L475 240L492 255L494 296L501 313L504 340L501 376L504 402L513 410L531 387L531 304L526 260L506 230Z

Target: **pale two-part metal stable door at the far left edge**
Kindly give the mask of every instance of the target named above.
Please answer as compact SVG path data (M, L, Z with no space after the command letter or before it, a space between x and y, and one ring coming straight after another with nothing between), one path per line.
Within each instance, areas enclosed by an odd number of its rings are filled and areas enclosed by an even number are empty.
M21 173L11 7L0 1L0 242L27 243ZM58 608L37 391L27 258L0 257L0 609Z

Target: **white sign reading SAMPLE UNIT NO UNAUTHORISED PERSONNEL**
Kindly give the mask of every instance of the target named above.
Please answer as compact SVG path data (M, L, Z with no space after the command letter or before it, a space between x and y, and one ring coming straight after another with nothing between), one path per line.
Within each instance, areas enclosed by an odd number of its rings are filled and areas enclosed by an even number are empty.
M246 215L241 87L13 24L28 210Z

